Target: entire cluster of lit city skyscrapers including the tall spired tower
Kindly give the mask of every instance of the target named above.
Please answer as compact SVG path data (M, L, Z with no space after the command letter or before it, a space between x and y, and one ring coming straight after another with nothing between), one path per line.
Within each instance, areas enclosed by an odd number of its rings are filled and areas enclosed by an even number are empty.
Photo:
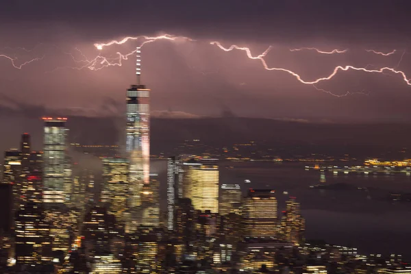
M364 260L306 245L295 197L278 214L274 190L245 194L238 184L221 184L214 158L168 158L160 212L160 182L150 173L150 90L140 84L136 53L125 152L108 147L119 155L101 160L98 184L69 157L66 118L43 118L42 151L31 150L29 134L20 150L5 151L1 273L333 273L332 262ZM411 273L386 266L379 273Z

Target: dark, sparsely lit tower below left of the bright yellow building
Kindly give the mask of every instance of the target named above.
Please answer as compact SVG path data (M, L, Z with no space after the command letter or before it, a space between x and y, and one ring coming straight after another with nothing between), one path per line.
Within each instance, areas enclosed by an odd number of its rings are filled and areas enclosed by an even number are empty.
M195 237L195 210L191 200L188 198L179 199L174 210L174 231L179 241L188 245Z

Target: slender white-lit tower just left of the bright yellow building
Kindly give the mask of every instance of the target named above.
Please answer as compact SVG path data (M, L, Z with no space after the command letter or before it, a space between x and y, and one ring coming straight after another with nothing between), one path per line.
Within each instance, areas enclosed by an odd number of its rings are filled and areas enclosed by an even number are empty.
M182 187L180 186L180 159L171 156L167 161L167 229L173 230L175 201L182 198Z

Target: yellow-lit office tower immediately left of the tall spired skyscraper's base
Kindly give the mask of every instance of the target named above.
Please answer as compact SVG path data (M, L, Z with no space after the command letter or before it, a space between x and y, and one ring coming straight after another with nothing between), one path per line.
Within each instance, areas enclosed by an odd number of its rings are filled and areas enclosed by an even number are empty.
M129 161L125 158L103 159L103 187L101 201L108 203L108 212L121 221L127 209Z

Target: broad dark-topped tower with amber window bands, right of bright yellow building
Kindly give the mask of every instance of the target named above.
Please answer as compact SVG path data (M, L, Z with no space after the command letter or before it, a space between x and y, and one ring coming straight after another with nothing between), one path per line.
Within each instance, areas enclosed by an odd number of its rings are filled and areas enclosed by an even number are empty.
M250 189L247 197L242 199L242 237L276 236L277 199L274 194L274 190Z

